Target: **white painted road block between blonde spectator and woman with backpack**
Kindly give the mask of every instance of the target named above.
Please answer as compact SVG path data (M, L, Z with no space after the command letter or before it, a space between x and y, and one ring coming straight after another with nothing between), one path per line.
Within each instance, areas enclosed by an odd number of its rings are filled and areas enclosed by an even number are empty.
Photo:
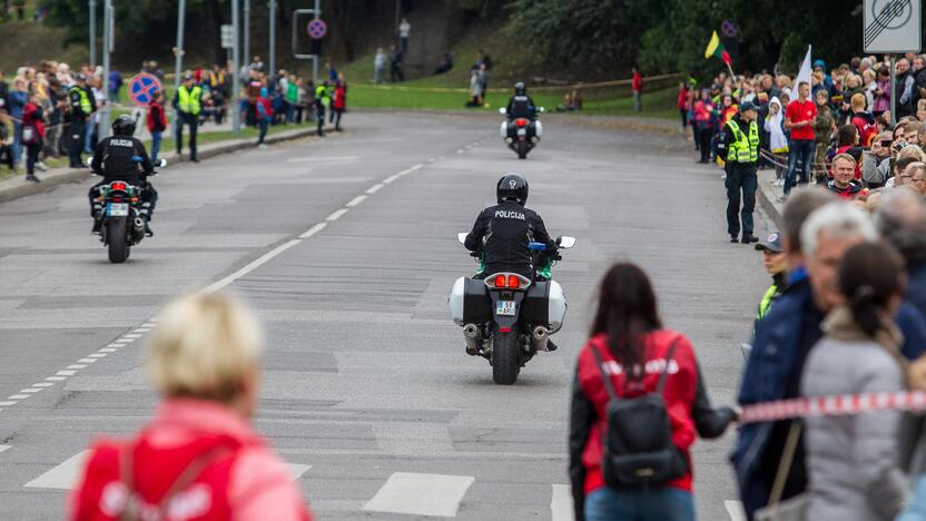
M471 475L394 472L363 510L453 518L474 481Z

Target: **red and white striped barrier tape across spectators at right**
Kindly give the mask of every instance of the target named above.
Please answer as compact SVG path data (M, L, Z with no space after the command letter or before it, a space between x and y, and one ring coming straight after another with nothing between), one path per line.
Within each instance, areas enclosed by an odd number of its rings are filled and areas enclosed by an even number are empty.
M740 423L810 416L847 416L875 411L926 411L926 392L843 394L757 403L742 407Z

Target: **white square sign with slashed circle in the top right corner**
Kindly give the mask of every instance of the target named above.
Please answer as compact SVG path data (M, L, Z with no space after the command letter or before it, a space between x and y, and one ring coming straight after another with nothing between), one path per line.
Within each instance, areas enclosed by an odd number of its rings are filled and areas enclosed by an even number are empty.
M919 52L922 0L865 0L865 52Z

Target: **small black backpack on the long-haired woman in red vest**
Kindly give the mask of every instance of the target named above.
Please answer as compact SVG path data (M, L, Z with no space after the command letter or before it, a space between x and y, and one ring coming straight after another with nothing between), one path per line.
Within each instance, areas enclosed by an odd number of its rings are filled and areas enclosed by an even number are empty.
M672 443L672 426L662 399L677 345L678 340L669 347L656 392L633 399L618 397L611 379L604 373L601 354L592 347L609 396L601 471L612 489L659 486L684 475L687 463Z

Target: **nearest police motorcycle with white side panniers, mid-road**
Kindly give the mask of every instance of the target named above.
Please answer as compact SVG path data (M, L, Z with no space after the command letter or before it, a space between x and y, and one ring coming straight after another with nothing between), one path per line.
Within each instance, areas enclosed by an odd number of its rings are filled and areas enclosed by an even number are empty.
M466 235L457 234L457 242L464 244ZM561 236L556 245L559 250L572 248L575 238ZM546 253L543 243L530 243L529 248L534 266L531 278L516 273L492 273L482 281L460 277L447 298L453 322L463 326L466 354L486 358L499 385L512 385L535 354L555 350L550 335L560 331L565 317L562 286L550 276L562 257ZM482 252L470 255L485 267Z

